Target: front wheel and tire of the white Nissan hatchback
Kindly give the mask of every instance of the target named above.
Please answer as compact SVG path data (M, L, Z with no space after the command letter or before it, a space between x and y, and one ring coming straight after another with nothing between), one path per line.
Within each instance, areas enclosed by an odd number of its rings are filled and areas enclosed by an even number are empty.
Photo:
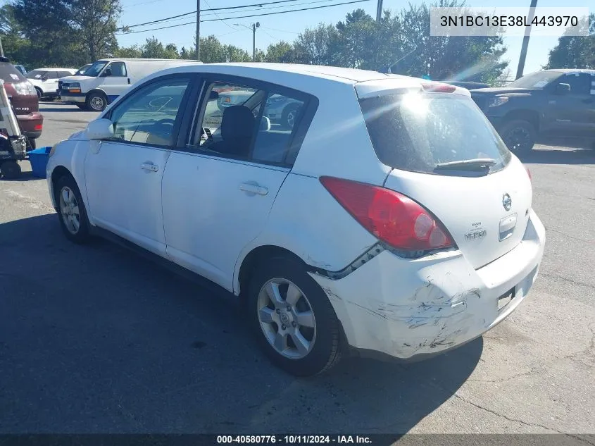
M87 209L75 179L70 175L58 178L54 187L60 226L71 242L86 243L91 238Z

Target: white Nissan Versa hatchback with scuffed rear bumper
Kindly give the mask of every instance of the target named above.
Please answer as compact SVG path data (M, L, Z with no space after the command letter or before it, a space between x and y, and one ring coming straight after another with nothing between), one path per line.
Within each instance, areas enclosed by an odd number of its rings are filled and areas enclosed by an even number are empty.
M222 113L229 89L252 94ZM299 105L291 128L268 118L273 95ZM301 376L480 336L544 251L530 175L469 92L372 71L163 70L56 144L47 178L70 240L110 236L241 297Z

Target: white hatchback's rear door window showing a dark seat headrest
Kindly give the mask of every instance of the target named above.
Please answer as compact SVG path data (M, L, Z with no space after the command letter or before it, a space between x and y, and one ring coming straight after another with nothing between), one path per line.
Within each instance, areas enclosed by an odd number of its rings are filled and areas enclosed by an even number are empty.
M256 133L258 106L266 92L244 85L212 82L201 111L194 147L220 154L249 156Z

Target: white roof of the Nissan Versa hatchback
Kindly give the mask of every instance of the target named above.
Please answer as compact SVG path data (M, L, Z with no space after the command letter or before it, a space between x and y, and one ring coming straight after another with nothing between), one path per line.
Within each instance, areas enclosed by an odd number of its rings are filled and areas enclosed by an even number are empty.
M249 78L261 78L261 75L267 75L268 77L268 75L273 73L282 78L284 74L292 73L308 76L309 78L324 78L327 80L331 78L337 82L350 84L396 77L396 75L389 75L370 70L319 65L299 65L294 63L204 63L201 65L191 65L190 67L192 67L192 71L206 73L218 71L217 68L225 68L223 71L225 71L225 74L227 75L246 76ZM190 67L182 66L172 68L171 72L188 71ZM410 79L406 76L401 77Z

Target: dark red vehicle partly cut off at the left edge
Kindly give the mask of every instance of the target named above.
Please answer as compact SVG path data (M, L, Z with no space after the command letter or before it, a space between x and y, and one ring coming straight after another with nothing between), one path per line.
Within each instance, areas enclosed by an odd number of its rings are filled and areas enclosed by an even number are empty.
M6 94L11 99L23 135L35 149L35 139L42 135L44 124L35 88L6 57L0 57L0 79L4 80Z

